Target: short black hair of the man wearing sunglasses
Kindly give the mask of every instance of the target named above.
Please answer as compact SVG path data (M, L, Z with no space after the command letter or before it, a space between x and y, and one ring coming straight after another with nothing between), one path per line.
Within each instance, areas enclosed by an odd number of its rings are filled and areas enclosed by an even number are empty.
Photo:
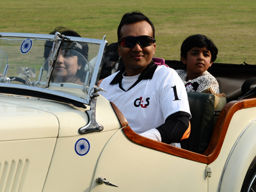
M120 38L121 38L120 33L121 33L122 26L133 24L135 22L140 22L140 21L143 21L143 20L147 21L150 24L150 26L152 28L152 31L153 31L153 37L155 38L154 24L143 13L141 13L139 11L136 11L136 12L131 12L131 13L125 13L124 16L122 17L122 19L120 21L120 24L118 26L118 29L117 29L117 38L118 38L118 40L120 40Z

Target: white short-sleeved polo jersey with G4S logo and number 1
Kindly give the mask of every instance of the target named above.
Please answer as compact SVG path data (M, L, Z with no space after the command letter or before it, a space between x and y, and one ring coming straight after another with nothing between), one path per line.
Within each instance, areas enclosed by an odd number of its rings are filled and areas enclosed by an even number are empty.
M100 84L106 90L101 95L122 111L131 129L139 134L164 124L174 113L175 116L191 116L188 95L177 72L164 65L154 70L148 68L143 71L142 79L139 77L138 83L127 91L116 83L122 81L122 70Z

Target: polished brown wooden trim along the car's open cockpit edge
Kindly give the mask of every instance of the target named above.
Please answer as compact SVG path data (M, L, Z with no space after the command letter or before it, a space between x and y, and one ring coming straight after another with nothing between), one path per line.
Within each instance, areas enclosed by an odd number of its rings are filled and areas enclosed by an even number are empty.
M115 113L118 116L120 124L122 125L122 127L124 127L124 134L127 136L129 140L133 141L134 143L137 143L138 145L142 145L148 148L152 148L154 150L159 150L167 154L172 154L173 156L182 157L200 163L211 164L213 161L217 159L218 155L220 154L223 141L227 134L228 126L234 113L236 113L236 111L240 109L256 107L256 99L234 100L228 102L225 105L225 107L221 110L220 115L218 116L218 120L215 124L214 131L212 133L211 141L209 143L207 150L205 150L204 154L197 154L189 150L173 147L172 145L161 143L159 141L150 140L148 138L140 136L140 134L137 134L136 132L132 131L124 115L115 106L115 104L113 104L113 102L111 102L111 106L115 110Z

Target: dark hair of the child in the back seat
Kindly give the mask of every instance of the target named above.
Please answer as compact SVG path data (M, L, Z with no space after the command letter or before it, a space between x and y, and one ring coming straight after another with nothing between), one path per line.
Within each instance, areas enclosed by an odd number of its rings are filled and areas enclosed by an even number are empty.
M188 51L193 47L206 47L211 52L211 61L214 62L216 60L218 48L214 45L211 38L200 34L188 36L180 47L180 56L187 58Z

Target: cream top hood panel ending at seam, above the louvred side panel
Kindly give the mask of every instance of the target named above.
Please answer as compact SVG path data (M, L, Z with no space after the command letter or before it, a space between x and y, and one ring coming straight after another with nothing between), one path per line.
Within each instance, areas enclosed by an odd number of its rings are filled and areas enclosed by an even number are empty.
M58 118L38 108L39 104L31 107L28 103L25 97L0 96L0 141L58 136Z

